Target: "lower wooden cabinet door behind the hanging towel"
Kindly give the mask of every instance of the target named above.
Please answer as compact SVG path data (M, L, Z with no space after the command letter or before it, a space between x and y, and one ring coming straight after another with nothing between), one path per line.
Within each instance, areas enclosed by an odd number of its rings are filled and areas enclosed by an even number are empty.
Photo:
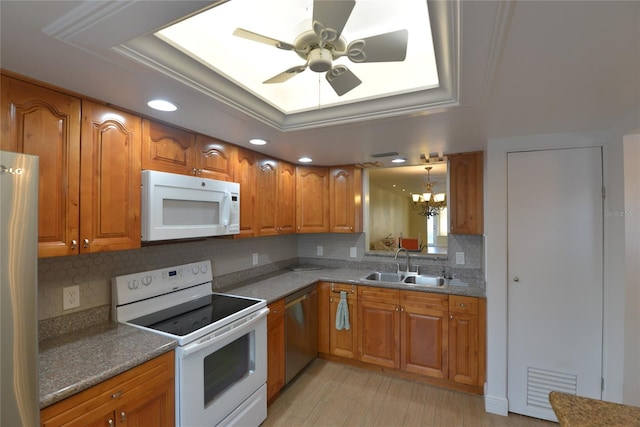
M334 290L339 292L339 287ZM356 359L358 354L358 304L355 295L347 292L349 307L349 329L336 329L336 314L340 295L332 293L329 298L329 352L335 356Z

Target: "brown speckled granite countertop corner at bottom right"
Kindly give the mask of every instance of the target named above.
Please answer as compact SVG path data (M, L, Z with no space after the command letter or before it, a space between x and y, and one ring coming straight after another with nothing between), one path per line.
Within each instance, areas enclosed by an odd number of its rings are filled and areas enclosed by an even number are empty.
M640 426L640 407L552 391L549 402L562 427Z

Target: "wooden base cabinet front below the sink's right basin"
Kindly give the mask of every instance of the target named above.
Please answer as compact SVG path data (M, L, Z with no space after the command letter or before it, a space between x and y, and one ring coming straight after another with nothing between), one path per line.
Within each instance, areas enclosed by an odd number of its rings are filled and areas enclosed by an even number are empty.
M401 291L400 305L400 369L448 378L447 295Z

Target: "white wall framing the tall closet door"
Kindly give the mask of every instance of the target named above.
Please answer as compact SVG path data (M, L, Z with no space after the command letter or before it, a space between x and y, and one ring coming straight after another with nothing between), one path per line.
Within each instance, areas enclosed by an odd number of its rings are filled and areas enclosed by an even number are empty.
M488 141L485 179L485 274L487 278L487 383L485 408L488 412L506 415L507 400L507 153L510 151L558 149L587 146L606 146L611 142L608 132L564 133L522 136ZM608 171L622 170L622 156L610 156L605 147L605 186L610 177ZM613 157L613 158L611 158ZM544 173L544 165L541 165ZM605 209L609 199L605 201ZM619 241L607 239L605 224L605 254ZM618 245L619 246L619 245ZM614 251L620 255L619 248ZM605 258L605 376L616 379L607 382L605 398L619 400L621 394L622 349L620 330L623 319L617 314L623 311L624 285L613 274ZM611 278L611 280L609 280ZM616 373L616 371L619 371ZM609 374L607 374L609 373ZM609 381L611 378L608 378ZM608 389L611 389L610 391ZM618 390L618 393L616 393ZM608 396L611 395L611 397Z

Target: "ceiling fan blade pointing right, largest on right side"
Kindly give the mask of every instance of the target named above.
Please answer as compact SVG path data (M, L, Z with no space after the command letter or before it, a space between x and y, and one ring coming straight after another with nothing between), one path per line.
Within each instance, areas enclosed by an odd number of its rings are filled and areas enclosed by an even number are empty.
M349 43L347 56L353 62L404 61L409 31L398 30Z

